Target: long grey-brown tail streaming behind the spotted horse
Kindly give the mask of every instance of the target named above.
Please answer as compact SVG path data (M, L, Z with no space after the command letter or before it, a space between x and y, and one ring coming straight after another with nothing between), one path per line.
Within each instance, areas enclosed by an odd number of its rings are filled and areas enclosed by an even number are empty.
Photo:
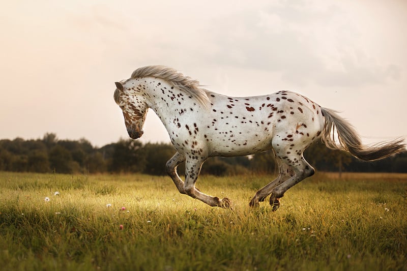
M396 138L369 146L362 145L355 128L334 110L321 108L325 117L322 141L331 149L342 149L363 161L374 161L405 152L404 139ZM335 136L336 130L336 136ZM337 138L336 138L337 137Z

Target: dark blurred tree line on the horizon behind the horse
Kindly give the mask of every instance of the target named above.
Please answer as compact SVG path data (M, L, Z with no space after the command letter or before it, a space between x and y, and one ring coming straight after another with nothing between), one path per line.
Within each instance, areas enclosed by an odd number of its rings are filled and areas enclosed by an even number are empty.
M95 147L86 139L60 140L55 134L47 133L36 140L0 140L0 171L165 175L165 163L175 152L167 143L142 144L137 140L120 139ZM406 153L366 163L316 142L305 151L304 157L319 171L407 172ZM184 164L178 171L184 174ZM274 154L269 151L252 156L209 158L201 174L222 176L276 171Z

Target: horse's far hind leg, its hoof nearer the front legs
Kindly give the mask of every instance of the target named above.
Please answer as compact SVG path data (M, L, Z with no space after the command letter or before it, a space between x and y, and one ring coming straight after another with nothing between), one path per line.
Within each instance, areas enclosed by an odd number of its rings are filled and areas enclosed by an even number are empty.
M265 198L271 194L273 188L282 184L286 179L292 177L294 172L292 168L290 168L287 164L281 161L281 159L277 158L279 174L278 176L268 185L259 189L254 197L250 200L249 205L251 207L255 207L258 205L259 202L264 201Z

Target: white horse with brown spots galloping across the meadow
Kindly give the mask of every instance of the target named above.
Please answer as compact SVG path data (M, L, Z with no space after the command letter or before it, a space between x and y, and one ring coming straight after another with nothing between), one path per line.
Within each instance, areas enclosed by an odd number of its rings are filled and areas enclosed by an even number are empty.
M210 206L228 208L231 201L195 188L201 166L209 157L247 156L272 149L279 174L255 193L249 205L257 206L271 195L270 205L277 210L289 188L314 174L303 152L318 139L363 161L405 151L401 138L363 145L355 128L337 111L291 91L228 97L208 91L197 80L165 66L138 68L115 86L113 98L123 111L129 136L142 136L147 111L154 110L177 151L166 163L167 174L180 193ZM177 173L182 162L184 181Z

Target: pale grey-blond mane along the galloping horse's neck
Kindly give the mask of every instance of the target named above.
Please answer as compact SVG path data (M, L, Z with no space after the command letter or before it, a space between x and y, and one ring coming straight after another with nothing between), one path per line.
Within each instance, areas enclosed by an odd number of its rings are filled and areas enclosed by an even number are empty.
M206 89L201 88L197 80L191 79L175 69L161 65L141 67L131 74L133 79L138 77L157 77L167 80L182 89L187 95L195 98L203 107L208 107L209 99Z

